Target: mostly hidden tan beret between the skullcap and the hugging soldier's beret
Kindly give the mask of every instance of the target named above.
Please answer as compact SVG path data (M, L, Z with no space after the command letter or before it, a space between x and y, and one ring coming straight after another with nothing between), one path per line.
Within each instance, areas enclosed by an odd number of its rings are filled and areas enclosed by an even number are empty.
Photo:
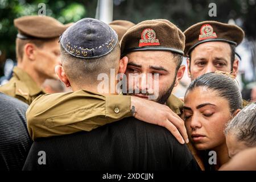
M109 26L112 27L115 32L117 32L118 41L120 42L123 35L125 35L125 32L129 28L135 26L135 24L127 20L114 20L113 22L109 23Z

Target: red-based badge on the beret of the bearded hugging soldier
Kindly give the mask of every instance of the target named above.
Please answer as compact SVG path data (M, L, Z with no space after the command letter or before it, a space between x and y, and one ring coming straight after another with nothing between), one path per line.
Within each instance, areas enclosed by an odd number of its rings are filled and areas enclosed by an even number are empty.
M139 47L144 46L160 46L159 40L156 39L155 31L151 28L146 28L142 31Z

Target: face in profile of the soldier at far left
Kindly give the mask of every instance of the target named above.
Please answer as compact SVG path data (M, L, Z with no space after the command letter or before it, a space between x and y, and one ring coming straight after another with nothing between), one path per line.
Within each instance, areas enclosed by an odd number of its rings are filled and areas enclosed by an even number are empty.
M60 64L60 45L53 39L36 48L35 69L44 78L57 79L55 66Z

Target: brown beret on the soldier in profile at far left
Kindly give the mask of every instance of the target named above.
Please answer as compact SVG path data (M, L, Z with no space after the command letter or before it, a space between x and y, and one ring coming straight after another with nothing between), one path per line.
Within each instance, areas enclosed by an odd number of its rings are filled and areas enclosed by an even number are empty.
M18 28L20 39L48 39L57 38L70 24L65 26L49 16L22 16L14 19L14 26Z

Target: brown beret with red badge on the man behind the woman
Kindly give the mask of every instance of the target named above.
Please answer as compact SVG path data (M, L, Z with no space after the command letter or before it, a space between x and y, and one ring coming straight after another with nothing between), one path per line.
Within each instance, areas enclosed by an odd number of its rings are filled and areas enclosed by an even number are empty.
M185 56L189 56L192 49L201 43L221 41L237 46L245 36L240 27L216 21L196 23L185 30L184 34L186 37Z

